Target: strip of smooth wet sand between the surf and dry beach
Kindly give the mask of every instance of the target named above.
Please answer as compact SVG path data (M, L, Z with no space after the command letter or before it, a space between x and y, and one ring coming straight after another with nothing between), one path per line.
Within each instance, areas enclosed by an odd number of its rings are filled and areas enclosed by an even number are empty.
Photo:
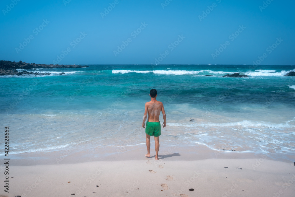
M85 162L117 162L130 160L155 160L154 143L151 143L151 157L147 158L146 145L141 144L136 149L120 150L116 147L95 147L86 148L81 151L81 147L63 149L51 152L29 152L12 154L11 165L37 166L37 165L72 165ZM196 146L161 146L159 151L159 163L164 160L169 161L200 161L204 159L257 159L272 160L285 163L294 163L294 155L289 154L287 157L278 157L277 153L255 153L255 152L233 152L233 151L216 151L205 145Z

